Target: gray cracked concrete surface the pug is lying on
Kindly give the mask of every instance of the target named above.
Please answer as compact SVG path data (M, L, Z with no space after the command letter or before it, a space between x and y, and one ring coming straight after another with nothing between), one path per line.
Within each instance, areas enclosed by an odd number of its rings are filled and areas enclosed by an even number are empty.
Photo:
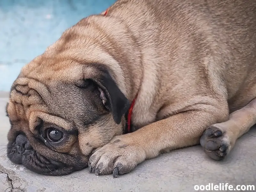
M0 93L0 192L192 192L194 185L208 183L256 185L256 128L237 140L233 151L221 162L209 159L200 146L195 146L148 160L116 179L111 175L96 176L87 169L61 177L35 174L12 164L6 156L10 127L4 109L7 95Z

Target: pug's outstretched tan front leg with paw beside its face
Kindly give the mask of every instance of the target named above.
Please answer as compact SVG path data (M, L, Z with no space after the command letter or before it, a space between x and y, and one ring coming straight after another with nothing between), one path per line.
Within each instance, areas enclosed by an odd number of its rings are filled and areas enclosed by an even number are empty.
M204 110L200 110L200 107ZM198 104L194 109L169 116L135 132L116 136L92 154L89 171L97 175L113 173L114 177L130 172L137 164L158 156L166 149L199 144L208 126L226 121L229 115L227 104L222 109Z

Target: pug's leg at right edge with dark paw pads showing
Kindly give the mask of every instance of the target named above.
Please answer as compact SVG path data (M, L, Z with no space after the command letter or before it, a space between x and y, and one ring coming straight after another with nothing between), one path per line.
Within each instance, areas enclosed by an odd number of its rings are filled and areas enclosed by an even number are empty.
M223 159L236 140L256 123L256 99L230 114L228 121L208 127L200 139L206 154L215 160Z

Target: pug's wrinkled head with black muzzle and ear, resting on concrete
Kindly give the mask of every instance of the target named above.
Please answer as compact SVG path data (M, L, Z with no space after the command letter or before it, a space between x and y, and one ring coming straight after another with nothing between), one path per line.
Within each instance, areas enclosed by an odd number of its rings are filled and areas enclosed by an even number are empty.
M128 107L105 65L44 53L12 85L7 155L45 175L84 169L93 149L123 133Z

